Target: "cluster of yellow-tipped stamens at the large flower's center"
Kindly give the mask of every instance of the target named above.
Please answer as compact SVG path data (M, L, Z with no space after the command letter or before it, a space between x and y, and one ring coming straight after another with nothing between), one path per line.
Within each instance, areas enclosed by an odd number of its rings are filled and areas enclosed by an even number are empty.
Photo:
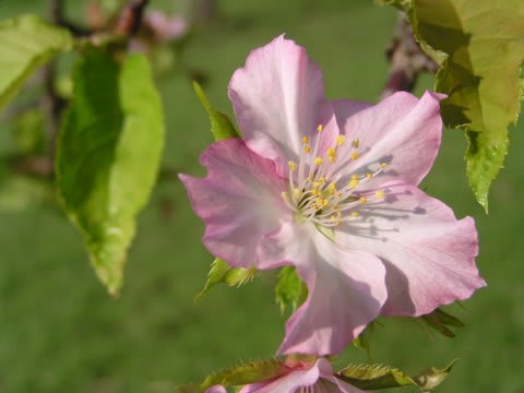
M299 162L290 160L288 191L282 198L294 212L299 222L311 222L323 227L335 227L344 222L361 219L356 211L357 206L368 203L368 199L383 199L384 191L378 190L361 192L361 184L374 178L386 167L385 163L377 163L377 167L364 174L340 174L335 163L338 159L341 146L346 142L345 135L338 135L334 144L318 155L320 139L323 131L322 124L317 128L313 148L309 136L302 138L302 150ZM359 158L358 139L352 141L349 154L352 160ZM369 167L368 167L369 169ZM343 181L343 178L345 179Z

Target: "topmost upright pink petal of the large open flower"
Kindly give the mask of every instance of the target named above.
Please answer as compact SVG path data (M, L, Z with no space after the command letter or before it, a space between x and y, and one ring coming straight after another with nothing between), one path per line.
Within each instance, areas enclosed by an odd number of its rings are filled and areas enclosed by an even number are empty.
M248 146L275 160L281 174L288 159L297 159L301 138L314 134L318 124L325 127L323 145L338 134L322 72L283 35L253 50L235 71L229 98Z

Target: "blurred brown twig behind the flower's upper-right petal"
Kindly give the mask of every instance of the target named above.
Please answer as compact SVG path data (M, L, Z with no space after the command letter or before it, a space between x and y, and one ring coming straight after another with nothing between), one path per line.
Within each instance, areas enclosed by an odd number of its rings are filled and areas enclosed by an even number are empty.
M412 27L404 15L397 24L395 37L386 55L391 66L382 98L398 91L413 91L422 72L434 73L439 69L415 40Z

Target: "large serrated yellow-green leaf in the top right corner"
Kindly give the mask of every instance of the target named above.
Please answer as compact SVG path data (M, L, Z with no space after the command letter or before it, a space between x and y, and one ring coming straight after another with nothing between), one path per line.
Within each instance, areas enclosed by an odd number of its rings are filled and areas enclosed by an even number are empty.
M466 131L466 172L488 211L489 187L508 152L522 99L522 0L385 1L404 8L417 40L441 64L436 90L448 127Z

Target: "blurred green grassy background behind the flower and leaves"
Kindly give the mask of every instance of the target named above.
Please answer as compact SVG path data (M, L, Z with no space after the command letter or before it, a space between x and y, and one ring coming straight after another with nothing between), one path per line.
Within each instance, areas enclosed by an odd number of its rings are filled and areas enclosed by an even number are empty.
M66 1L82 16L81 0ZM218 0L217 21L195 31L183 61L203 71L214 105L231 112L227 84L249 51L281 33L303 45L324 71L327 96L374 102L383 87L384 50L397 15L371 0ZM172 2L152 0L151 7ZM2 0L2 19L43 13L41 0ZM202 175L198 157L212 142L209 121L187 74L159 83L167 118L164 163ZM417 87L431 86L430 78ZM524 392L524 124L511 130L507 169L496 181L489 215L466 186L461 132L448 130L424 189L458 217L476 218L479 269L488 287L448 308L466 327L454 340L420 323L386 320L372 334L373 362L408 372L460 358L440 392ZM0 152L10 153L10 124L0 124ZM76 230L52 203L31 202L17 180L0 172L0 391L172 392L178 383L239 360L271 357L287 315L273 301L272 276L240 289L218 287L199 305L212 257L203 225L176 177L158 183L140 215L122 295L115 300L95 278ZM350 348L344 358L366 361ZM341 365L343 362L341 361ZM415 392L416 389L405 389Z

